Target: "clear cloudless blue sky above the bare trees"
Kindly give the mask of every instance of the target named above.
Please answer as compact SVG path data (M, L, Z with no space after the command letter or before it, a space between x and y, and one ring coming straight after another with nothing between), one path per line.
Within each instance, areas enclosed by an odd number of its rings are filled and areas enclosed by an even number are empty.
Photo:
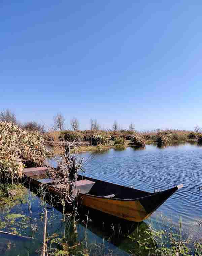
M202 126L202 1L6 1L0 109L47 126Z

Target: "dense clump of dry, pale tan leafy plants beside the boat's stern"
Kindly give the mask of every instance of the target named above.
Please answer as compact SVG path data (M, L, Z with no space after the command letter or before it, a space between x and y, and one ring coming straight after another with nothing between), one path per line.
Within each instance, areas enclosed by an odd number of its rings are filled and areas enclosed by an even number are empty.
M48 155L45 140L38 132L20 129L14 123L0 122L0 182L23 176L27 161L43 163Z

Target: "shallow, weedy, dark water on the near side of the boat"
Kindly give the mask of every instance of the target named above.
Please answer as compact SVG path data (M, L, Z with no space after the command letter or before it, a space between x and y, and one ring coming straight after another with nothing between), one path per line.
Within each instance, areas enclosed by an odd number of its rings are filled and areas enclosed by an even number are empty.
M34 193L25 189L23 195L14 199L0 198L0 230L34 239L22 238L0 233L1 256L36 256L43 249L44 207L48 208L47 234L48 255L129 255L137 252L139 245L131 237L137 236L137 224L114 219L104 219L101 214L94 218L87 212L63 220L61 211L41 200ZM36 226L35 230L32 227ZM77 230L77 235L75 232ZM140 232L148 229L146 223L139 226ZM121 233L119 232L121 230ZM138 239L139 239L138 233ZM47 237L47 235L46 235ZM63 254L56 250L63 250ZM68 253L65 253L67 251ZM144 250L143 250L144 251ZM51 254L52 253L52 254Z

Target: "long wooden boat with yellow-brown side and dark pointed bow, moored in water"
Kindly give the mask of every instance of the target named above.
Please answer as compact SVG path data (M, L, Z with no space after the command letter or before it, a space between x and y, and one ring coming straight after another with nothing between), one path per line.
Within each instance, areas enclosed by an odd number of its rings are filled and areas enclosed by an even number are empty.
M58 194L57 184L46 175L47 168L25 168L24 175L35 185L46 184L50 193ZM41 177L40 177L41 176ZM44 178L45 177L45 178ZM78 175L76 181L82 205L134 222L147 219L183 184L158 193Z

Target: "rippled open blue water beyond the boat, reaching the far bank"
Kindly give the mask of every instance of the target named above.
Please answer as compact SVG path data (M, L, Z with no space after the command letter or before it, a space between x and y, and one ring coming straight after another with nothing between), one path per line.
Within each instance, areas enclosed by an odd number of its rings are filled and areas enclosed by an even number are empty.
M87 157L90 153L81 153ZM196 224L202 221L202 147L175 144L164 148L146 145L138 150L110 149L94 153L86 166L86 176L153 192L184 184L151 218L162 212L174 221Z

